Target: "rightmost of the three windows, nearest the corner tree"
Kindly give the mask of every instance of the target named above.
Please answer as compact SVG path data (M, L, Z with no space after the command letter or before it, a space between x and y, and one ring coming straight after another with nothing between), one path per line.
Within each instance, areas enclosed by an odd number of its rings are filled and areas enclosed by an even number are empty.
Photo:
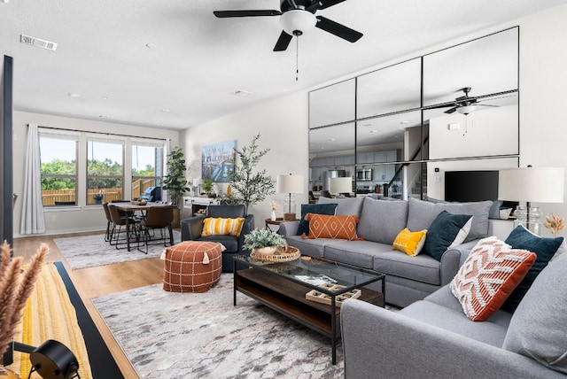
M153 201L161 200L163 176L163 143L132 142L132 197L140 197L145 190L157 188Z

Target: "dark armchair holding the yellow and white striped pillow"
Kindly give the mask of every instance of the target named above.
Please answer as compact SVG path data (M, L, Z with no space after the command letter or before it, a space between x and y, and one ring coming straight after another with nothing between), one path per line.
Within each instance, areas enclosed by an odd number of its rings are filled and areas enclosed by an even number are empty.
M206 236L201 237L203 231L203 221L206 217L214 218L230 218L244 217L245 222L242 225L240 236ZM181 239L182 241L208 241L219 242L226 248L222 251L222 272L231 273L233 271L232 258L235 255L247 254L249 251L243 250L242 245L245 243L245 235L250 233L254 228L253 214L246 215L245 205L208 205L206 215L197 215L181 222Z

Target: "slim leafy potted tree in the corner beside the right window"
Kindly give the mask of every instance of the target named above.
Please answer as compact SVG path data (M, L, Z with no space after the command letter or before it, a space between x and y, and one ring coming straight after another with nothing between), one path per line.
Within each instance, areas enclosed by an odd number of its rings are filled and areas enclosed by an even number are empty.
M163 180L163 189L169 191L169 198L174 208L174 227L179 228L180 224L180 206L183 204L183 194L190 190L185 179L185 159L183 151L175 146L171 152L167 154L167 175Z

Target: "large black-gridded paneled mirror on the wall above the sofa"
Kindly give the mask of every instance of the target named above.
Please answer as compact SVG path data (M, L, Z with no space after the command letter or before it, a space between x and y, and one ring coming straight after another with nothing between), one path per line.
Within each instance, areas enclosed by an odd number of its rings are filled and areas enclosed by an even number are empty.
M517 166L518 27L309 94L310 190L445 197L445 172ZM342 194L341 196L349 196Z

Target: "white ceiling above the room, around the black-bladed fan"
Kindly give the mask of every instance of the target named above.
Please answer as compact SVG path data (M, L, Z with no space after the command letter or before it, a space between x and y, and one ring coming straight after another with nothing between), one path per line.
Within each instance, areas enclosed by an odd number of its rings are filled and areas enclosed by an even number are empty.
M320 29L302 35L299 81L295 41L272 51L278 17L213 15L279 9L278 0L3 0L0 51L14 58L17 111L184 129L566 3L348 0L317 14L364 36L347 43ZM19 43L21 34L57 50Z

